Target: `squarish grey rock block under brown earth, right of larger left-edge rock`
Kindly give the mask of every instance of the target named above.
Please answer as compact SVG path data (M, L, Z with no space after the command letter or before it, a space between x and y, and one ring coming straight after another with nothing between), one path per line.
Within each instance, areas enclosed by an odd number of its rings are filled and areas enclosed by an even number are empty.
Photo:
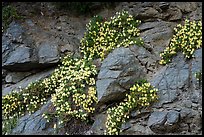
M39 63L57 63L59 61L59 51L57 45L51 42L43 42L38 49Z

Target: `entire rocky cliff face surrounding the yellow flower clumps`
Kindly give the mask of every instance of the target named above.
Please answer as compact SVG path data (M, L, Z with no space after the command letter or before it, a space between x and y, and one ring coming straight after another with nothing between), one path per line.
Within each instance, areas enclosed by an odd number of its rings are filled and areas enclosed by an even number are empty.
M36 10L35 4L23 7L19 3L22 15L29 17L12 22L2 33L2 96L48 77L60 57L80 56L80 40L91 17L57 14L47 3L37 3ZM103 62L95 60L99 69L96 81L99 111L95 112L95 121L86 134L104 134L107 108L122 100L140 78L158 88L159 99L150 109L133 110L130 119L121 126L121 135L202 134L202 80L195 77L195 73L202 72L202 48L195 51L192 59L187 60L179 52L171 63L158 64L159 53L169 45L173 28L186 17L202 19L202 3L120 2L98 15L109 18L122 9L142 21L139 29L144 45L116 48ZM48 101L33 114L21 117L12 134L55 134L53 123L42 117L50 106ZM80 124L70 123L70 133L82 133Z

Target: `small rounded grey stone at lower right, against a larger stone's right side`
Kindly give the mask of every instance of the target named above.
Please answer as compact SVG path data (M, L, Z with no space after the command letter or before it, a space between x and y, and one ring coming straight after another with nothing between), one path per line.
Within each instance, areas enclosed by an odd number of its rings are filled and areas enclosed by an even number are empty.
M168 112L167 124L173 125L173 124L177 123L178 120L179 120L179 112L178 111L171 110Z

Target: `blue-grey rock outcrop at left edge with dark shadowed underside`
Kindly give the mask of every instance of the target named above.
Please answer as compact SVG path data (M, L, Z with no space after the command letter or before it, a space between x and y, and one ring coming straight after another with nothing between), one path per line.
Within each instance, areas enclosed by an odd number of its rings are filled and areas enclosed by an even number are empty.
M38 68L45 68L48 64L59 61L59 52L56 48L47 43L39 49L26 29L18 23L11 23L10 28L2 37L2 67L11 71L29 71ZM39 54L37 54L39 50ZM49 56L45 54L49 51ZM43 55L42 55L43 54ZM48 54L48 52L47 52ZM41 61L42 58L47 61ZM53 61L56 60L55 62Z

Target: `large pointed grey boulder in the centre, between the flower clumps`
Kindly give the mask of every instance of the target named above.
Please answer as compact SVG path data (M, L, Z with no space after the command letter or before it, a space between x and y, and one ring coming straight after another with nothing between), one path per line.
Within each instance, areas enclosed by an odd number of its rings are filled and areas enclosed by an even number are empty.
M128 48L113 50L102 62L96 81L99 102L113 102L124 98L124 92L143 76L142 67Z

